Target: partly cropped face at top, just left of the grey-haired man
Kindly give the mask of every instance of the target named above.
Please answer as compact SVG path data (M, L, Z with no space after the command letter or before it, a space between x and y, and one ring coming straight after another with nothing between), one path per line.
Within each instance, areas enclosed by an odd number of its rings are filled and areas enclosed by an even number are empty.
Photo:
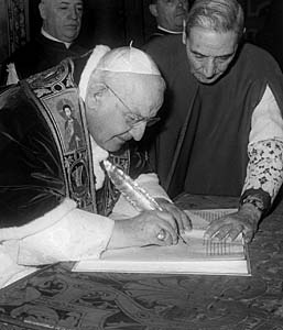
M157 0L152 4L157 24L171 31L182 31L183 21L186 20L188 3L187 0Z

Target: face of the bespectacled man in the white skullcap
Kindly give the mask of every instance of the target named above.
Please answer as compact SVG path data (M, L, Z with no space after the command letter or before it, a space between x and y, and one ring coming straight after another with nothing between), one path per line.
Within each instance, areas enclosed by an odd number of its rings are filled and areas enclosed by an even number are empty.
M134 102L122 99L113 88L104 85L95 96L88 92L86 98L86 116L88 129L96 143L116 152L131 139L140 141L148 123L156 121L159 108L155 105Z

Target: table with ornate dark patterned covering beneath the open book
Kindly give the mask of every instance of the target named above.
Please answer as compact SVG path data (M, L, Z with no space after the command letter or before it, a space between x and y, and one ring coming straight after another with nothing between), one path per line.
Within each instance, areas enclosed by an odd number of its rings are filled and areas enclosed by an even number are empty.
M183 208L232 208L189 196ZM0 329L283 330L283 205L249 246L252 276L72 273L51 265L0 290ZM43 326L45 324L45 326Z

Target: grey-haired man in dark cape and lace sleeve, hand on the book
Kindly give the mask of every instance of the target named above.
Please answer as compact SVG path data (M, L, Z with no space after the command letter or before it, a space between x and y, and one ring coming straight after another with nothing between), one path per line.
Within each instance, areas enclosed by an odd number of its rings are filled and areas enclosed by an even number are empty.
M156 144L156 170L171 197L182 191L239 196L238 212L207 234L250 241L283 180L283 77L265 51L242 44L236 0L196 0L185 44L153 40L167 96Z

